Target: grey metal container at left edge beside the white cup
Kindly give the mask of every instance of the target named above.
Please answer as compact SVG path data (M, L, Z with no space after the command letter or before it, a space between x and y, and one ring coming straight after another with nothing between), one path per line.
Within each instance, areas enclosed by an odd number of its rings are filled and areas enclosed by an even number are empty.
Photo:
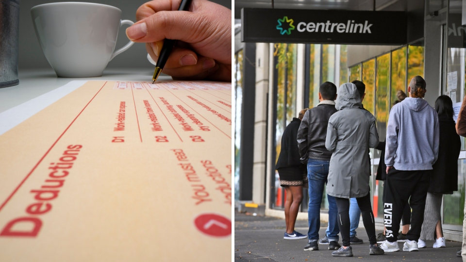
M0 0L0 88L17 85L19 0Z

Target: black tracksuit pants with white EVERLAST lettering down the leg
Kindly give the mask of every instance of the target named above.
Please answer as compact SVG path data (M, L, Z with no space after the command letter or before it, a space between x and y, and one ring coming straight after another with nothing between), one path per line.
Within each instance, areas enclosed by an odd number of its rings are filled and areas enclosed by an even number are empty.
M411 229L406 238L419 240L431 172L432 170L397 170L394 167L388 171L387 180L383 185L386 187L383 196L383 221L387 229L385 236L389 242L398 240L399 222L408 199L413 211Z

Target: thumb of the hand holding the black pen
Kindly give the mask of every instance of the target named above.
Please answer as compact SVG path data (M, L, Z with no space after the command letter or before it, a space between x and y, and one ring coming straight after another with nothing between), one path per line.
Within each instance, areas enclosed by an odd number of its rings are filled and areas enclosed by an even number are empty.
M176 39L186 43L201 41L210 28L205 17L187 11L160 11L126 29L128 38L136 43Z

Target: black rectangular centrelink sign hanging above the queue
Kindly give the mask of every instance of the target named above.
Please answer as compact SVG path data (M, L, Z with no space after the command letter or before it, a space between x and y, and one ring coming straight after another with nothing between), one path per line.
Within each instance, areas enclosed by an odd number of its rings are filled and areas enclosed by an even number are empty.
M241 41L403 45L407 18L391 11L243 8Z

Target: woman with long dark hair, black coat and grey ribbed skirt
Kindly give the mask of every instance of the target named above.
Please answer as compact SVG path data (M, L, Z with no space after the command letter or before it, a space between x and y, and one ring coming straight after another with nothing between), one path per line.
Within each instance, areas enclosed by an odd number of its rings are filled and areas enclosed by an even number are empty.
M448 96L440 96L435 101L438 113L439 145L438 159L433 164L431 184L427 191L424 222L417 247L426 247L425 240L435 240L434 248L445 247L442 232L441 207L442 197L458 191L458 157L461 150L461 139L456 133L453 120L453 102Z

